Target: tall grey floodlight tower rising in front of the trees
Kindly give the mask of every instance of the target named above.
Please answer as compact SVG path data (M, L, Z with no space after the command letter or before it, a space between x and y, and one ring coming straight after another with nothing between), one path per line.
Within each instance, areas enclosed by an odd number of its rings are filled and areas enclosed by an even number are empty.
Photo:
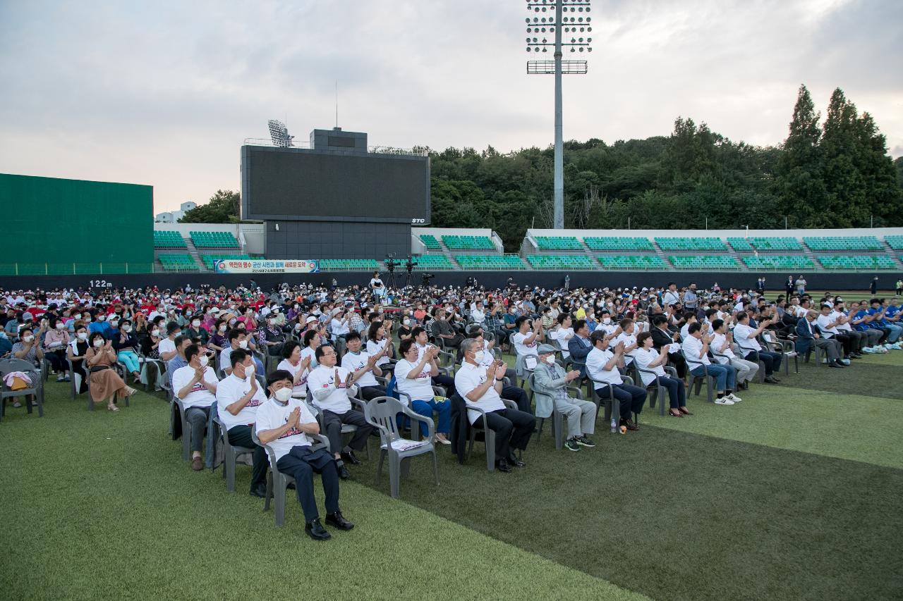
M554 158L554 223L555 229L564 227L564 142L562 134L562 75L583 75L586 60L562 60L563 47L571 51L591 52L592 32L590 0L526 0L526 10L533 17L526 19L527 52L547 52L554 49L554 60L527 60L526 72L555 76L555 158ZM554 34L549 42L546 33ZM570 41L563 34L571 35Z

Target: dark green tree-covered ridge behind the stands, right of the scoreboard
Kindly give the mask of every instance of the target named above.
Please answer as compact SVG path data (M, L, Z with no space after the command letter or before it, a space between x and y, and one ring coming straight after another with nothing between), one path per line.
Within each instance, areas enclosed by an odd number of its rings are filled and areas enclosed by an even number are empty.
M668 137L566 142L565 227L903 225L903 162L872 117L836 89L820 122L802 86L780 147L733 142L681 117ZM517 252L527 227L551 226L551 146L430 156L433 227L492 227Z

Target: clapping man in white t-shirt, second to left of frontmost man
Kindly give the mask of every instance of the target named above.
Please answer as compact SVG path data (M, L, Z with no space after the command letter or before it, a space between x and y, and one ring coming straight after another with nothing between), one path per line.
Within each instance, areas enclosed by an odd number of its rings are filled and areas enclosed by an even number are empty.
M182 400L185 407L185 421L191 427L191 469L200 472L204 460L200 457L203 448L204 430L210 418L210 405L217 400L217 374L207 365L207 356L197 345L185 349L188 365L180 367L172 374L172 393ZM188 436L182 432L182 436Z

